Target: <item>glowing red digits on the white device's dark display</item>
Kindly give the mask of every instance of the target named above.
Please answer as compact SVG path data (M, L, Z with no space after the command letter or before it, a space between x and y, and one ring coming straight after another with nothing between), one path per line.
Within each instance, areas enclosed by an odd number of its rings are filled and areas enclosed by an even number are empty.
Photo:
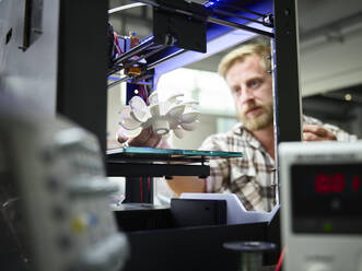
M361 176L352 178L352 191L359 191ZM334 175L318 174L314 180L314 189L317 193L340 193L346 189L346 176L341 173Z

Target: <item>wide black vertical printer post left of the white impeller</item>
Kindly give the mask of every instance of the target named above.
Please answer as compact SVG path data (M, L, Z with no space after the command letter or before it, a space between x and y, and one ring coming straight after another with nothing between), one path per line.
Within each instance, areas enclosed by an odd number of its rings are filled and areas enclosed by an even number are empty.
M95 133L105 153L108 1L59 2L57 111Z

